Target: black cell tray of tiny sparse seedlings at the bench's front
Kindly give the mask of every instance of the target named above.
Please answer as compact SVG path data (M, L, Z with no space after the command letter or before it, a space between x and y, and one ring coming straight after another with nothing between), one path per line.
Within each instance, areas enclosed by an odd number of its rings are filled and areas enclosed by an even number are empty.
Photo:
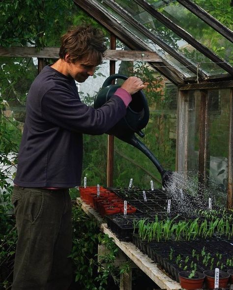
M232 258L233 243L226 240L199 240L199 241L177 241L177 242L149 242L142 241L138 234L133 235L133 242L135 245L145 254L147 254L151 260L158 263L174 280L179 282L178 273L183 270L184 266L187 266L187 270L191 270L192 261L197 265L197 271L204 271L209 269L210 265L203 263L204 257L207 253L210 253L211 257L214 257L212 267L219 267L221 265L222 270L228 270L231 267L227 266L227 260ZM204 247L205 255L203 257L196 258L195 253L201 253ZM172 257L170 257L171 248L174 250ZM221 254L221 264L217 264L218 258L216 253ZM175 260L179 256L179 262ZM201 255L200 255L201 256ZM189 258L185 262L186 258Z

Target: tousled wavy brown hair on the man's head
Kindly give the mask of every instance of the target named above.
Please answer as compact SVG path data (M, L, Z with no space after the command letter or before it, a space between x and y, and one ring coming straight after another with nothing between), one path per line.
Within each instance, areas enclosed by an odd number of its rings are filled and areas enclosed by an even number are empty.
M65 59L69 54L72 63L87 57L95 65L102 62L107 47L105 38L100 29L88 26L78 26L69 29L61 36L59 58Z

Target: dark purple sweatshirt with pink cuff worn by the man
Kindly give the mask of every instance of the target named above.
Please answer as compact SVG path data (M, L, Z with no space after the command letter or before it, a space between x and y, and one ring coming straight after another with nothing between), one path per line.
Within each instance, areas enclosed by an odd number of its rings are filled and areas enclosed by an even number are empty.
M120 88L95 110L81 102L72 78L44 67L29 89L14 183L23 187L80 185L83 133L107 132L125 116L130 100Z

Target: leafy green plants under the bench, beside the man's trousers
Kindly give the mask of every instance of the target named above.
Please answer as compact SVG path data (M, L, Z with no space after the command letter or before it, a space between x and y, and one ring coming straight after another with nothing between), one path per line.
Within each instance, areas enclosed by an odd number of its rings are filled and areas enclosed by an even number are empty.
M101 233L96 221L87 217L81 207L77 206L73 207L73 233L70 257L74 264L77 287L105 290L111 276L118 283L119 274L128 272L128 263L123 263L120 267L114 265L118 248L112 238ZM99 257L98 244L106 247L106 253Z

